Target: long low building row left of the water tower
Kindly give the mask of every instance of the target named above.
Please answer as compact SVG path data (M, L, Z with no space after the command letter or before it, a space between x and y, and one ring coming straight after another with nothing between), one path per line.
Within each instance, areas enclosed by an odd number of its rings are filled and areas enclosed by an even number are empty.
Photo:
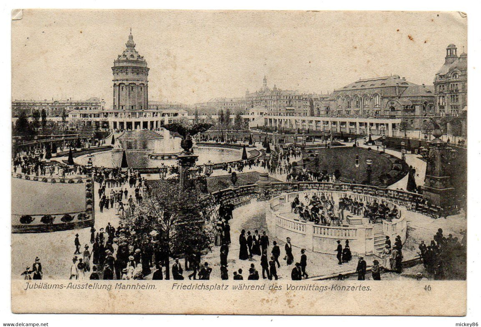
M18 117L21 112L31 115L34 110L42 111L45 109L47 116L60 117L65 110L65 113L69 113L72 110L102 110L104 109L105 101L99 98L90 98L87 100L14 100L12 101L12 116Z

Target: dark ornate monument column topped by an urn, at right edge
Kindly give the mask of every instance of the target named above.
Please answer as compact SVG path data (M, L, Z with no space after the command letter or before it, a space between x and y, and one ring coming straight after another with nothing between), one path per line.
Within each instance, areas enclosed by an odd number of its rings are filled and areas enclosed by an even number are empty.
M442 208L454 204L454 188L451 176L446 175L446 165L453 155L453 150L447 142L441 140L443 132L435 128L432 132L433 140L429 142L427 156L426 177L424 178L423 198Z

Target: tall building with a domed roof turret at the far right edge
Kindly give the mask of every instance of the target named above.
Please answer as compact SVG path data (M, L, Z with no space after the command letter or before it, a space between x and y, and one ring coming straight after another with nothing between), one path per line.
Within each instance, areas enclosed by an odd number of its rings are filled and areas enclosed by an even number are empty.
M440 116L461 115L468 106L468 54L457 56L454 44L446 48L446 57L434 77L435 111Z

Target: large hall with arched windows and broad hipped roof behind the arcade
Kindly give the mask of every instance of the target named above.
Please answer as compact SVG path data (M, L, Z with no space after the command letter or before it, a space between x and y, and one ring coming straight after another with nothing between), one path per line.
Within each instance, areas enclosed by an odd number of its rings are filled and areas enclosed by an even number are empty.
M435 115L434 88L399 75L359 79L334 90L323 115L402 118L417 129L427 116Z

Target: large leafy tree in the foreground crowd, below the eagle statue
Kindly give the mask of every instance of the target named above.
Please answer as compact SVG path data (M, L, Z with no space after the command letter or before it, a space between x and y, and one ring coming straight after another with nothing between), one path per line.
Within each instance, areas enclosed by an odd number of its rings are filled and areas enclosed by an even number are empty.
M207 219L196 189L159 183L152 186L142 205L121 221L131 231L127 243L142 247L152 239L154 252L163 254L159 259L165 265L165 279L170 279L171 257L187 257L210 247L214 233Z

